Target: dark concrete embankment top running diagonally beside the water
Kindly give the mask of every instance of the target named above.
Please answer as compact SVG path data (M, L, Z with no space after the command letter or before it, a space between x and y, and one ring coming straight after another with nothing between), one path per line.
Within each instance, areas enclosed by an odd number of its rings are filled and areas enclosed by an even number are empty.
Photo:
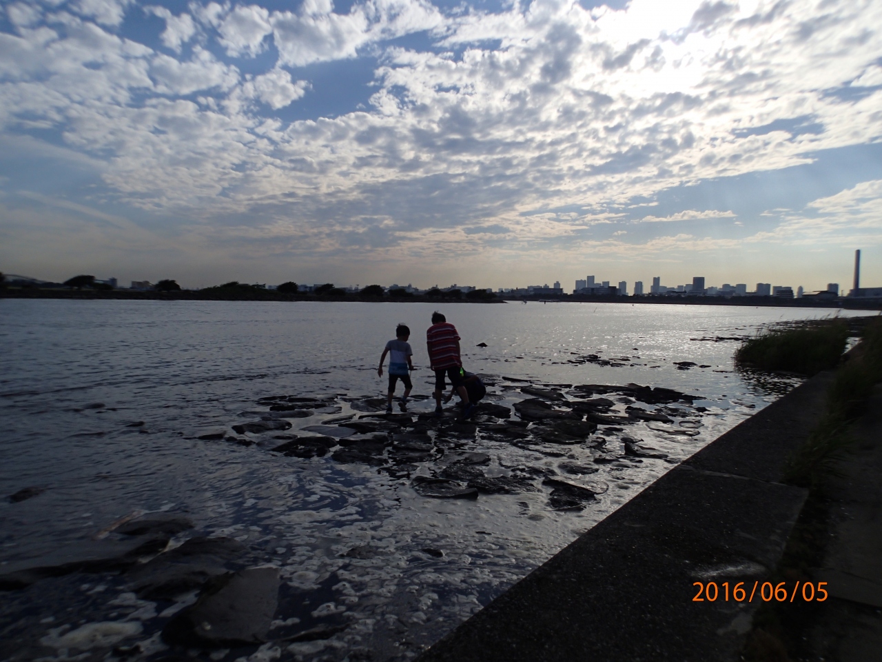
M807 491L781 483L824 411L822 372L737 425L425 651L419 662L736 660ZM693 582L721 595L695 602Z

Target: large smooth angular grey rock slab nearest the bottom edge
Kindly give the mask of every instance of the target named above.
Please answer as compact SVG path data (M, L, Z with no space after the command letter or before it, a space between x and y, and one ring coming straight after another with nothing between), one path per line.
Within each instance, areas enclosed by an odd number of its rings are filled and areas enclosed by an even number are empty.
M279 603L279 569L248 568L214 577L195 605L162 630L167 643L226 647L265 642Z

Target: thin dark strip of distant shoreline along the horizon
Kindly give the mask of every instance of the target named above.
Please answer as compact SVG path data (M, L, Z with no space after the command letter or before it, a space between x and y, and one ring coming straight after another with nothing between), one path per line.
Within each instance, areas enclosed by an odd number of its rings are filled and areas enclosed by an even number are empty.
M0 298L26 299L123 299L130 301L345 301L368 304L411 303L411 304L503 304L527 301L531 304L648 304L648 305L740 305L775 308L826 308L836 310L882 310L882 302L844 299L842 301L811 301L811 299L780 299L776 297L586 297L564 295L555 299L536 297L494 297L491 299L445 298L445 297L359 297L357 294L328 297L313 294L283 294L275 290L249 290L235 295L217 290L181 290L177 292L158 292L155 290L43 290L39 288L6 288L0 290Z

